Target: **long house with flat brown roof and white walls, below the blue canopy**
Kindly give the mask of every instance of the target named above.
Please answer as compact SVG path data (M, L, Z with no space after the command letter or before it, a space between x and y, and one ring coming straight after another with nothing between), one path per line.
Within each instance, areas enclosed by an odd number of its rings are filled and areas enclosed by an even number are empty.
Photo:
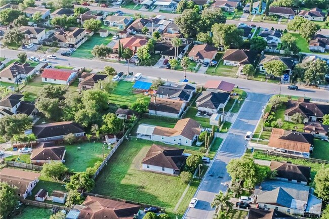
M186 102L167 98L151 98L148 113L151 115L179 118L186 107Z

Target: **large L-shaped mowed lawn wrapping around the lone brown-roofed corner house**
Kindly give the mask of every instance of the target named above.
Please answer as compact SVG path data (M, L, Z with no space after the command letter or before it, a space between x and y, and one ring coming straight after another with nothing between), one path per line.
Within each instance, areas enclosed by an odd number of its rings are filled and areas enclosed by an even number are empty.
M123 142L101 174L93 193L165 207L172 211L186 185L179 177L140 170L152 142Z

